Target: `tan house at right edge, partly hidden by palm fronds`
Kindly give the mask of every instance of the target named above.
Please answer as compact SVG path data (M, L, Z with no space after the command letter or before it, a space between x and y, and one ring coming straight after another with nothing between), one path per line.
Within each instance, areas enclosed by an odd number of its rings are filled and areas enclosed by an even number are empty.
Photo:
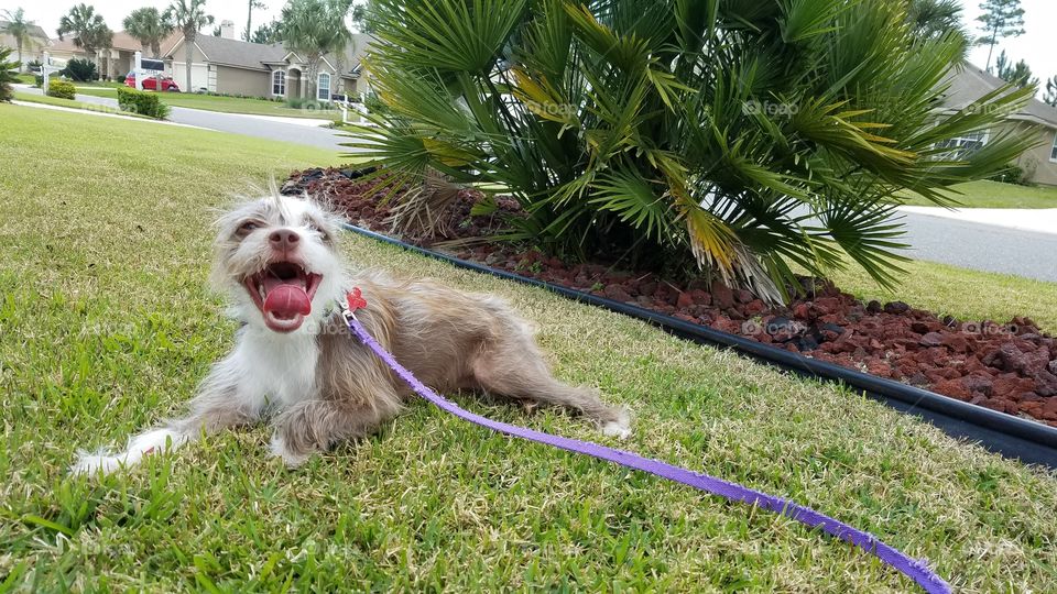
M1006 84L1005 80L969 63L948 75L947 81L950 82L950 88L944 101L942 110L946 113L973 109L981 97ZM1038 140L1038 146L1025 151L1015 162L1024 170L1025 179L1033 184L1057 186L1057 108L1038 99L1031 99L994 129L952 139L948 144L972 150L983 146L992 136L1009 130L1017 135Z

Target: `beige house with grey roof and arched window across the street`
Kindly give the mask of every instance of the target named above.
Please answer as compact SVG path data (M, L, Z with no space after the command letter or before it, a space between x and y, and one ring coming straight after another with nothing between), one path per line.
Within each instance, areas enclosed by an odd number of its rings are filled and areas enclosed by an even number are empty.
M370 35L357 34L345 54L319 61L315 99L360 95L370 90L362 67ZM186 80L186 48L181 36L162 50L166 72L181 86ZM308 98L305 58L282 43L250 43L235 38L231 21L220 24L220 36L198 35L190 58L192 91L264 98Z

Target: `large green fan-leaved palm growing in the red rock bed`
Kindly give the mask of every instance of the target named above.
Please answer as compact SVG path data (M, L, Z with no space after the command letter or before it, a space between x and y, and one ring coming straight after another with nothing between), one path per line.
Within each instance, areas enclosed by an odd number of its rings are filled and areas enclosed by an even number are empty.
M772 300L793 264L825 276L847 255L891 286L898 193L945 204L940 189L1027 146L996 133L945 152L1029 92L942 114L961 45L915 36L902 2L372 6L368 66L388 109L351 145L394 187L479 186L477 212L511 194L526 216L505 237L552 253L699 267ZM427 195L399 208L435 208Z

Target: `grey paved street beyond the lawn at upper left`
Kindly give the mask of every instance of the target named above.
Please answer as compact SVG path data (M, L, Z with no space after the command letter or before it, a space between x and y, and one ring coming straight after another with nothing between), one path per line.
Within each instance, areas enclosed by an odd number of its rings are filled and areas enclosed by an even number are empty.
M30 87L20 87L19 90L34 95L42 94L41 89ZM109 97L79 94L76 97L77 100L83 103L118 108L118 100ZM173 107L168 120L175 123L195 125L219 132L307 144L309 146L329 148L341 153L353 152L353 148L340 145L342 142L349 142L350 139L336 130L305 125L304 122L287 122L283 121L283 118L242 116L238 113L221 113L218 111Z

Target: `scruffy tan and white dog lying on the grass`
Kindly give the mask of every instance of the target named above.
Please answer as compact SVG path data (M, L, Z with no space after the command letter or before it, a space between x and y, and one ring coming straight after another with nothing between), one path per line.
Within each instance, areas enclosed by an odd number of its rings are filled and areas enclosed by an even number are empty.
M132 437L126 450L84 453L75 474L109 473L200 436L270 419L271 453L297 466L379 429L413 394L352 336L336 307L359 288L367 330L423 383L569 408L625 438L630 418L593 388L554 378L527 324L501 299L429 282L346 270L337 218L307 197L273 191L217 221L210 280L241 322L188 415Z

